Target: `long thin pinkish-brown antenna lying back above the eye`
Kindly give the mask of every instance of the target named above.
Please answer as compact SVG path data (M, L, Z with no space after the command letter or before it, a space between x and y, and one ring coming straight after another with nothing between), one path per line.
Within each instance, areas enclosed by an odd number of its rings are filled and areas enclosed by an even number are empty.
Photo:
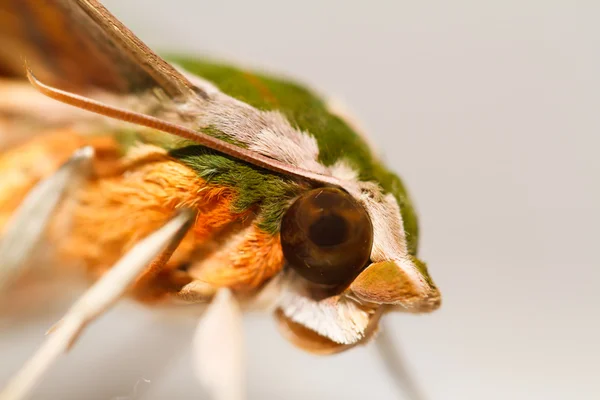
M109 118L117 119L132 124L145 126L150 129L157 131L170 133L194 141L202 146L206 146L210 149L216 150L220 153L227 154L235 157L239 160L248 162L256 165L257 167L265 168L273 172L281 173L284 175L292 175L302 179L308 179L310 181L324 183L327 185L340 186L339 180L328 175L314 173L302 168L294 167L283 163L273 158L263 156L262 154L255 153L253 151L240 148L239 146L224 142L216 139L210 135L202 132L197 132L193 129L189 129L171 122L163 121L156 117L137 113L130 110L125 110L108 104L104 104L97 100L90 99L75 93L67 92L55 87L46 85L40 82L34 75L27 64L25 64L27 72L27 78L29 82L42 94L66 103L74 107L78 107L96 114L104 115Z

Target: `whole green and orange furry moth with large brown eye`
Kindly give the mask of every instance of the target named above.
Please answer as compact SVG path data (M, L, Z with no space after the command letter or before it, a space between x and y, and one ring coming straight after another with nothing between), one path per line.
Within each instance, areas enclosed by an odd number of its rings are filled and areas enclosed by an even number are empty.
M333 354L385 313L440 306L402 181L305 86L166 61L96 0L0 0L0 76L0 292L40 242L92 284L0 398L25 397L123 296L206 306L197 369L231 399L243 310Z

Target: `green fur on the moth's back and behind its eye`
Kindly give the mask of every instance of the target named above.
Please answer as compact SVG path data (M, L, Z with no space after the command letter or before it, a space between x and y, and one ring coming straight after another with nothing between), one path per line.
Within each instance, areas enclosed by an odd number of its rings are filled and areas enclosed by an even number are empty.
M385 192L393 194L402 213L409 252L416 254L417 217L402 181L376 159L368 144L357 132L352 130L341 118L328 111L325 101L318 95L297 83L225 64L185 57L171 57L170 59L187 71L211 81L229 96L259 110L280 111L292 126L314 136L319 146L319 161L322 164L330 166L343 158L358 171L361 180L377 182ZM204 130L204 132L221 136L219 132L211 132L210 129ZM225 179L219 174L209 176L209 181L230 184L238 188L240 194L240 201L236 206L238 210L239 207L250 206L249 199L253 198L261 199L261 209L264 211L275 210L277 207L285 208L285 202L289 201L289 198L283 198L284 202L279 200L278 204L271 204L268 194L278 196L291 195L296 192L291 189L291 183L286 183L284 178L212 152L198 151L198 149L193 151L177 149L172 151L172 155L190 165L200 175L206 175L202 168L214 170L215 168L210 168L210 164L213 163L218 168L231 168L231 176L245 176L251 170L257 174L268 176L268 179L257 179L257 184L260 182L258 186L237 186L240 183L237 180ZM229 175L229 173L225 175ZM285 190L282 189L283 187ZM258 191L260 195L246 193L247 190ZM279 229L277 216L280 216L282 212L283 209L279 209L277 212L271 211L268 213L269 215L263 216L265 218L264 227L268 231L276 232Z

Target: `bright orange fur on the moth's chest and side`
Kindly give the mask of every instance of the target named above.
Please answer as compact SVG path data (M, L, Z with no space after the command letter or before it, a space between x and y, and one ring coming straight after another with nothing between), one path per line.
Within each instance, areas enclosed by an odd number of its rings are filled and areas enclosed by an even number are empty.
M116 142L111 148L110 137L85 137L70 130L41 133L0 153L0 227L35 182L52 174L75 149L94 142L95 178L75 190L50 225L59 265L83 261L92 276L99 276L175 209L188 207L197 210L198 217L165 266L171 274L163 271L151 281L141 280L148 287L134 293L146 299L152 293L156 300L194 279L214 290L226 286L248 291L282 268L278 236L254 226L251 211L231 211L235 190L207 184L160 148L146 146L122 159ZM219 242L225 240L221 248ZM186 271L178 270L182 264L189 264ZM189 290L186 296L191 297Z

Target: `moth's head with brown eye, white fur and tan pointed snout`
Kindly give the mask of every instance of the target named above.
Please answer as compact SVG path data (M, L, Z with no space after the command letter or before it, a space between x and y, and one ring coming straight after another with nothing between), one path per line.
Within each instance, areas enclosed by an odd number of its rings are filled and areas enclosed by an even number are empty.
M401 212L398 196L375 182L343 182L302 194L281 223L289 281L276 317L288 339L315 353L365 342L386 311L420 313L440 305L415 255L416 237L408 240L417 235L403 219L412 209ZM403 205L410 207L408 199Z

